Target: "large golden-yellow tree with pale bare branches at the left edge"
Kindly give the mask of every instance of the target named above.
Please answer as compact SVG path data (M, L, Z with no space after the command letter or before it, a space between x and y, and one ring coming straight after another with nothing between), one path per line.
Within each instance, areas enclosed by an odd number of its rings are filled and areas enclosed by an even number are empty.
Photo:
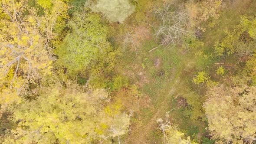
M20 101L19 95L28 84L38 84L50 75L52 58L46 50L53 39L54 25L65 16L67 5L62 0L51 0L52 8L38 9L29 0L0 2L0 99L1 107ZM40 6L38 0L38 5Z

